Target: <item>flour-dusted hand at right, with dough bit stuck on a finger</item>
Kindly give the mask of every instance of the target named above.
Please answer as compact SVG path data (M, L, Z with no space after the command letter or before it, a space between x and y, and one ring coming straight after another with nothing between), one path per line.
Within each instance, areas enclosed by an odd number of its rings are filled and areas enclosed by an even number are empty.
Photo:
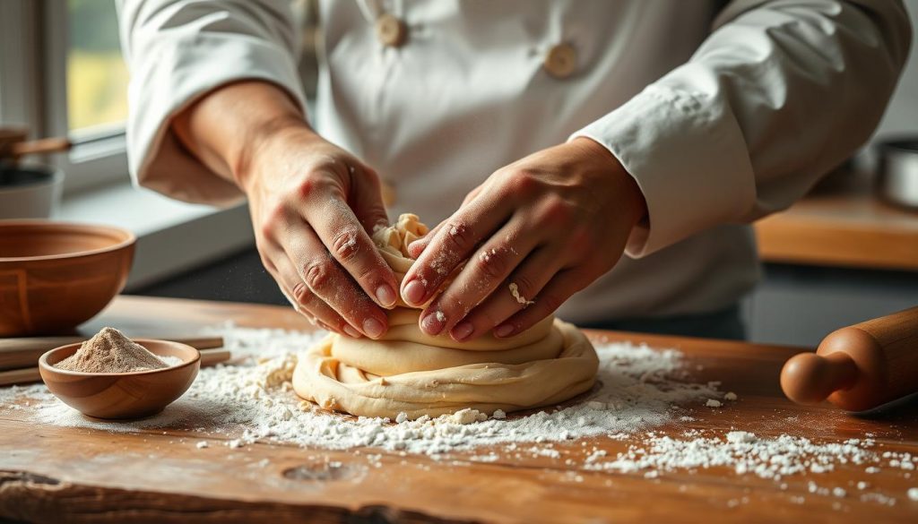
M489 329L510 337L608 272L644 215L637 184L597 142L538 151L493 173L409 246L418 260L401 295L420 306L465 263L421 312L420 329L460 341Z

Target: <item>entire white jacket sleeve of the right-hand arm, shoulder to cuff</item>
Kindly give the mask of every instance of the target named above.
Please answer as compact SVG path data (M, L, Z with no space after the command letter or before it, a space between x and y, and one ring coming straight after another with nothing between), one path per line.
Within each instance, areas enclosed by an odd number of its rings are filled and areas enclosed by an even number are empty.
M898 0L733 1L688 63L574 135L631 173L641 257L789 206L879 123L912 39Z

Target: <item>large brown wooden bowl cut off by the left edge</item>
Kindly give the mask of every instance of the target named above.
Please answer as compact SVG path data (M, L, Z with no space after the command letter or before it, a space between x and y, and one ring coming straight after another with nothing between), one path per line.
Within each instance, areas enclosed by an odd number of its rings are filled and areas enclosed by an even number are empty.
M0 337L67 331L124 288L135 237L125 229L0 220Z

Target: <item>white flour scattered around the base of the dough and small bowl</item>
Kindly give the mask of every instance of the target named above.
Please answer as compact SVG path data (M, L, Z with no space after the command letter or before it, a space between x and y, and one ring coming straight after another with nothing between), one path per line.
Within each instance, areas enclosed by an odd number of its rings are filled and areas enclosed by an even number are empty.
M701 405L706 399L722 396L710 385L686 380L678 351L655 351L628 343L599 344L599 384L576 404L522 415L465 409L440 418L393 423L386 418L325 412L296 396L290 377L297 352L323 333L226 327L215 334L224 337L236 357L234 363L202 368L185 396L151 418L128 422L84 418L51 396L43 385L0 388L0 404L21 397L33 404L39 422L50 425L122 432L197 430L229 438L230 447L269 440L328 449L371 446L435 455L511 442L597 435L626 438L673 421L680 405Z

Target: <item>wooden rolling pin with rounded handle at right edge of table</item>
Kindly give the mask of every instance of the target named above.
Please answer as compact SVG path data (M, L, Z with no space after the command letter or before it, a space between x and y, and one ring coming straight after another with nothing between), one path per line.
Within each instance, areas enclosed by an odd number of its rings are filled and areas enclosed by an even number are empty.
M799 404L828 399L849 411L918 392L918 307L834 331L784 364L781 389Z

